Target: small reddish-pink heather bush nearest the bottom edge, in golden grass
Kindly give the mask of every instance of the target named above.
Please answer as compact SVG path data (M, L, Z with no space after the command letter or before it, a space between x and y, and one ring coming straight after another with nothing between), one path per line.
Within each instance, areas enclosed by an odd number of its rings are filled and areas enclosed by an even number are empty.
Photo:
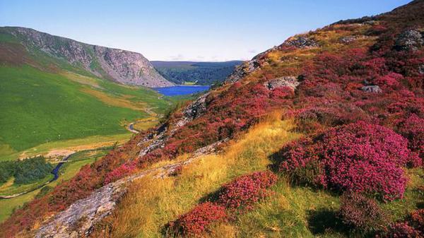
M175 222L170 222L170 230L175 236L199 237L212 222L226 218L223 206L211 202L201 203L189 213L179 216Z

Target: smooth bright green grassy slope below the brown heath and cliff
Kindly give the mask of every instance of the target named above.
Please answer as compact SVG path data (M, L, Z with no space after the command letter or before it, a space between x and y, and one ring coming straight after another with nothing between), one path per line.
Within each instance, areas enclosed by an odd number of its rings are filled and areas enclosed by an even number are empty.
M157 113L170 107L159 97L77 74L1 66L0 157L51 141L128 133L122 123L149 117L146 107Z

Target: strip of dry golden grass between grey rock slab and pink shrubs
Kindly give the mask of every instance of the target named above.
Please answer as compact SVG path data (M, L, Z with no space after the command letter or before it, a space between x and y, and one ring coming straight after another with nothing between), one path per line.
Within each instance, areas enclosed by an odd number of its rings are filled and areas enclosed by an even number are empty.
M187 212L225 182L241 174L264 170L269 155L300 135L293 121L270 114L220 155L204 155L182 169L178 177L145 177L129 188L118 209L93 233L93 237L164 237L167 222ZM188 155L179 157L182 160ZM167 162L161 162L162 165ZM286 206L284 198L278 201ZM104 230L105 232L102 232ZM210 237L237 237L232 225L218 224Z

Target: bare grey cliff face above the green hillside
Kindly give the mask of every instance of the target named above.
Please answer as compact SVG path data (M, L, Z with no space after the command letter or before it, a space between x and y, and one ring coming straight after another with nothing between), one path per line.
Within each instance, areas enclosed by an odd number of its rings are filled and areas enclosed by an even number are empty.
M3 28L18 37L27 49L40 49L95 76L128 85L165 87L174 85L160 76L143 55L122 49L85 44L30 28Z

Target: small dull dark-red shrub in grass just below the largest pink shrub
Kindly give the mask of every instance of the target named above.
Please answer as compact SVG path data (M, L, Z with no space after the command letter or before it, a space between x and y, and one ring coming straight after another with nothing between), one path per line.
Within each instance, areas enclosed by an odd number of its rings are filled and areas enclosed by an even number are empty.
M343 223L365 233L383 230L388 221L374 199L360 194L342 196L340 216Z

